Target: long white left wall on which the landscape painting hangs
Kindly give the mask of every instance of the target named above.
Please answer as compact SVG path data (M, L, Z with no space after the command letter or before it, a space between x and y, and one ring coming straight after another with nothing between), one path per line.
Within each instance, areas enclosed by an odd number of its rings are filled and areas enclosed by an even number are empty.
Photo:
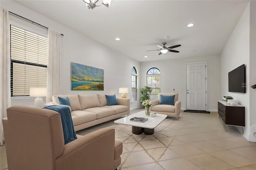
M131 98L131 80L132 67L135 67L139 73L140 63L109 49L95 40L88 38L66 26L63 26L53 20L50 20L28 8L20 6L13 1L1 1L1 7L37 22L43 26L51 28L64 36L61 38L61 92L62 94L95 94L111 93L121 97L118 93L119 87L128 87ZM30 23L27 23L28 25ZM70 90L70 62L89 65L92 67L104 69L104 91L71 91ZM140 84L138 83L140 86ZM138 87L139 87L138 86ZM33 105L34 98L12 99L12 105ZM131 107L139 107L140 103L132 103Z

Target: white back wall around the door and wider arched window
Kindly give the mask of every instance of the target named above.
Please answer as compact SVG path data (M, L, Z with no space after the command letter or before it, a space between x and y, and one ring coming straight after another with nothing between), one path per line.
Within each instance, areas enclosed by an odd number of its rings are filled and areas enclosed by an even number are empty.
M161 75L161 92L172 93L173 89L179 94L182 110L186 109L186 63L207 61L208 71L208 111L217 111L220 97L220 55L186 57L180 59L169 59L162 61L142 62L140 64L140 85L145 86L146 73L156 67ZM140 87L140 88L141 88Z

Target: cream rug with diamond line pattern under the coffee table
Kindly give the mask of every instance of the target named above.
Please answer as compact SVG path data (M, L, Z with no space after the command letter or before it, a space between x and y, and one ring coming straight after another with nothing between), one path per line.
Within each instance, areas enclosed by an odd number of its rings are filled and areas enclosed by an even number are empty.
M179 158L180 155L173 153L168 147L180 144L180 140L174 139L174 136L181 124L183 125L179 121L165 119L152 135L133 134L132 127L128 125L111 125L116 130L116 140L123 142L122 162L118 170L126 170L126 167L137 166L141 162L149 164L175 156Z

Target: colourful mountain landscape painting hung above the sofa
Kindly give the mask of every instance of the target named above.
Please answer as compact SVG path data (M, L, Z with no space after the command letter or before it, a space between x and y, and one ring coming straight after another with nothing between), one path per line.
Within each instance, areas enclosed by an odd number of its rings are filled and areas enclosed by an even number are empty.
M71 62L71 90L104 90L104 70Z

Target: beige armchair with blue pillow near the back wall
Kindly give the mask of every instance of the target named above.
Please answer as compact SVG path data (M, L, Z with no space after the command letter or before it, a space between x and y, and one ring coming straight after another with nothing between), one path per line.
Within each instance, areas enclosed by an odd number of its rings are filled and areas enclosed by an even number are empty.
M174 105L160 105L161 95L174 97ZM178 93L158 93L158 100L152 101L150 111L153 113L164 114L170 117L176 117L180 115L181 101L178 101Z

